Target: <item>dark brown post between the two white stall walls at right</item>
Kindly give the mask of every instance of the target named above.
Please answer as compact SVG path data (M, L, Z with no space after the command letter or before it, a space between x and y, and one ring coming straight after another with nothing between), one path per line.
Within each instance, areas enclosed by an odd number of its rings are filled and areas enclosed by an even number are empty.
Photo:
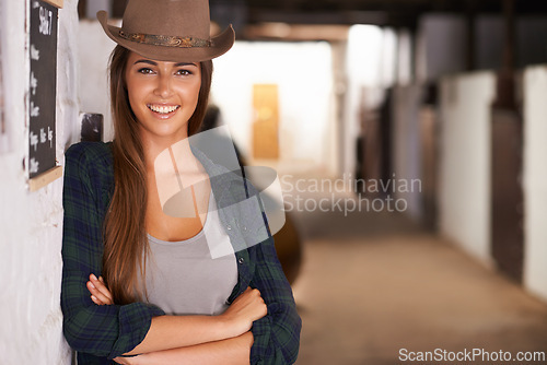
M504 0L503 64L491 107L491 250L498 268L522 281L524 260L522 113L514 81L514 0Z

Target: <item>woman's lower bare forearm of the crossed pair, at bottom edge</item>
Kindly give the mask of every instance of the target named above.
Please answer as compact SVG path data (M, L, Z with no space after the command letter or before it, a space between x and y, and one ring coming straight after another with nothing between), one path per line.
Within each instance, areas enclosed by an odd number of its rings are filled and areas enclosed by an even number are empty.
M253 333L248 331L226 340L143 354L136 364L248 365L252 345Z

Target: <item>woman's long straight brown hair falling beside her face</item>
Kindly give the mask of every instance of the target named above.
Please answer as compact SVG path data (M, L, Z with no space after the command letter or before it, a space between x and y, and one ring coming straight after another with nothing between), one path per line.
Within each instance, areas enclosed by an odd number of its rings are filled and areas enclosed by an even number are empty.
M146 294L138 285L138 268L143 275L143 254L149 249L144 227L148 201L144 151L125 82L129 55L128 49L116 46L109 60L115 188L104 224L103 276L115 304L132 303ZM200 68L201 87L196 110L188 120L188 136L201 126L211 89L212 61L200 62Z

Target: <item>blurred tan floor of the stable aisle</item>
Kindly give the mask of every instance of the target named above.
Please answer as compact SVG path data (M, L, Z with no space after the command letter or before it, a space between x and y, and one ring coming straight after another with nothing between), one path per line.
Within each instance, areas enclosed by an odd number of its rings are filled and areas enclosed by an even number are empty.
M292 215L304 238L298 365L404 364L400 349L547 353L545 303L404 214ZM481 360L414 363L547 364Z

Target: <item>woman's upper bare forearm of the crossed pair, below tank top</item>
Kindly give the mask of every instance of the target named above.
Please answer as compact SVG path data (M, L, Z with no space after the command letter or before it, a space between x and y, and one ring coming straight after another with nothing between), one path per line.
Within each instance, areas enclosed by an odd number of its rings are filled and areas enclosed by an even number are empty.
M238 334L223 316L154 317L144 340L125 355L191 346Z

